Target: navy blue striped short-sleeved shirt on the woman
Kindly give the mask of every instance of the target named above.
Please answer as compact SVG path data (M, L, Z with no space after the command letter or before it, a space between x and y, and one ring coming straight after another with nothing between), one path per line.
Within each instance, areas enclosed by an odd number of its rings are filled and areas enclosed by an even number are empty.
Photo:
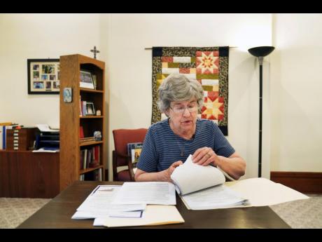
M190 154L202 147L211 147L219 156L229 157L235 153L213 121L197 119L195 135L191 140L185 140L174 134L169 119L165 119L148 128L137 168L147 173L166 170L176 161L185 162Z

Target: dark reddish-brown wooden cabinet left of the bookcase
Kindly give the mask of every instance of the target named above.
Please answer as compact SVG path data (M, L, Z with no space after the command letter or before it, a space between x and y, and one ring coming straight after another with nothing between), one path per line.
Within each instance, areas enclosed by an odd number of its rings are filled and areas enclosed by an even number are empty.
M0 151L0 197L53 198L59 194L59 153Z

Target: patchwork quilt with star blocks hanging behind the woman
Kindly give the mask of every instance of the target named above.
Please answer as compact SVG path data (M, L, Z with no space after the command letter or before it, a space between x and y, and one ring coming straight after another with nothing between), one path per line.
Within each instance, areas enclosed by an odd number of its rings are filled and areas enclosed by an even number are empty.
M204 89L204 105L199 116L218 124L228 135L228 60L229 47L153 47L152 120L161 120L158 88L172 73L196 79Z

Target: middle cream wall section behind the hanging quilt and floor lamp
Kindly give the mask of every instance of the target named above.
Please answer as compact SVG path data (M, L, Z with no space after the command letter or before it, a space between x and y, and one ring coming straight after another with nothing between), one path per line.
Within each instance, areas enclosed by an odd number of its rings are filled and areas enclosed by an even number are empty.
M111 88L110 133L117 128L151 125L152 53L144 48L238 47L230 50L228 140L247 161L246 177L257 176L258 62L246 50L272 44L272 15L112 14L102 18L109 26L105 31L109 31L110 46L106 62ZM267 123L264 126L269 129ZM109 139L111 161L112 134ZM263 143L267 149L269 142ZM269 152L263 153L263 175L269 177Z

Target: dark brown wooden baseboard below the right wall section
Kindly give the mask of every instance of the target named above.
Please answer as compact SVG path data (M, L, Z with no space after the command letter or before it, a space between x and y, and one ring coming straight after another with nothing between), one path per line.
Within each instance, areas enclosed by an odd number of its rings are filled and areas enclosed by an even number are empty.
M271 180L304 194L322 194L322 173L272 171Z

